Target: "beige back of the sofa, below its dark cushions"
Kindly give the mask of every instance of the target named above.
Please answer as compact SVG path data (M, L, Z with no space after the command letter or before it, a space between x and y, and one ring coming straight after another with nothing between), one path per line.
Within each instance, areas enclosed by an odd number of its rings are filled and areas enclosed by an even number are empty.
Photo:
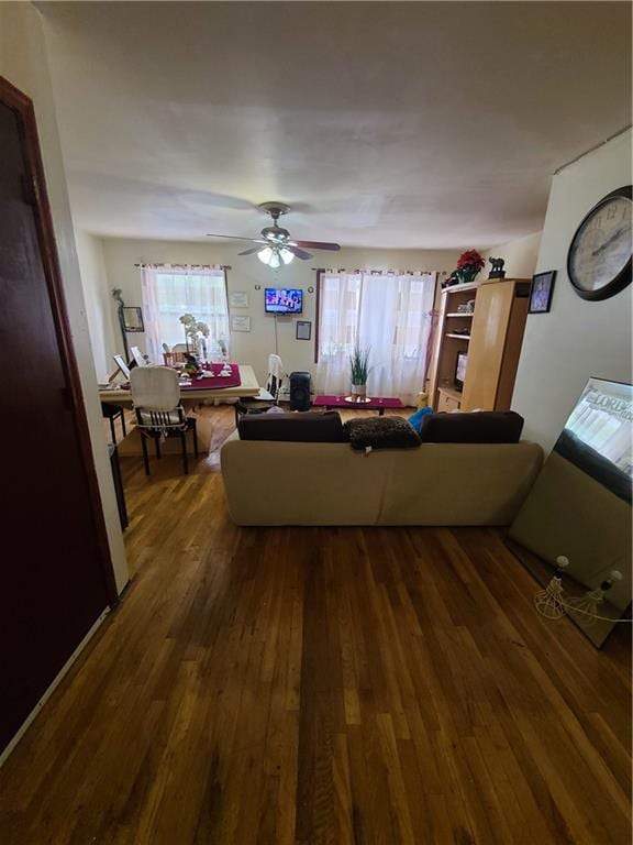
M543 452L518 443L423 443L369 453L348 443L240 440L221 451L238 525L509 525Z

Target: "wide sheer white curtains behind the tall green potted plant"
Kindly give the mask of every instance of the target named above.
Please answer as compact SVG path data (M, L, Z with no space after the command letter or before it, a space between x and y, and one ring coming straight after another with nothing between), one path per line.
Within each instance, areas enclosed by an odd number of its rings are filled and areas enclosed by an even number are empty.
M349 354L370 348L367 391L414 405L424 387L435 273L325 273L320 289L316 384L349 391Z

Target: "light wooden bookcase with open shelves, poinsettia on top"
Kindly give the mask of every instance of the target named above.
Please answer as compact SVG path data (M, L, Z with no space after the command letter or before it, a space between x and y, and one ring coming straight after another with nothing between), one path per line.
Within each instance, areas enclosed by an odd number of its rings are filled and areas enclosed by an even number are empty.
M530 301L530 281L490 279L442 292L433 343L430 404L436 410L509 410ZM475 300L473 314L458 306ZM469 333L459 333L468 330ZM464 389L455 389L457 353L467 352Z

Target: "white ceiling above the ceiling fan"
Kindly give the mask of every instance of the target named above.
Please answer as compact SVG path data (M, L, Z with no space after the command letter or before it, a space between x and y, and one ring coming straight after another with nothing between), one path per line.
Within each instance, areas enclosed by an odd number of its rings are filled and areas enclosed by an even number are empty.
M486 246L631 119L631 6L42 3L77 222Z

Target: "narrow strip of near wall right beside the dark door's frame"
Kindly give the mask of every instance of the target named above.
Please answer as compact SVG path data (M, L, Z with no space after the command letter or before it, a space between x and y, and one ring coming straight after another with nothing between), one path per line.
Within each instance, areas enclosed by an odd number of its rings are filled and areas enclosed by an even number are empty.
M31 97L35 106L73 344L79 366L116 585L122 590L129 578L125 549L103 436L46 46L40 13L31 3L0 3L0 75Z

